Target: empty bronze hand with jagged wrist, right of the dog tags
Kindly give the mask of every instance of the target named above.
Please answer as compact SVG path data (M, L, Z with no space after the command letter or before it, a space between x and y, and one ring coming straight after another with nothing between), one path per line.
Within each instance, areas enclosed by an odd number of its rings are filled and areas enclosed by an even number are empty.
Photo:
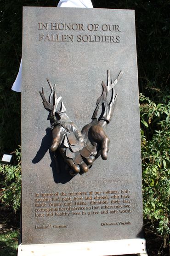
M103 160L107 159L108 149L110 140L106 132L106 126L110 122L113 116L113 110L117 98L115 94L114 86L118 83L120 77L123 75L123 71L120 71L116 80L110 83L110 71L108 70L107 85L102 82L102 95L98 98L96 102L96 109L92 116L92 121L88 125L85 125L81 131L85 145L89 151L91 151L91 156L93 156L93 161L100 155ZM108 103L108 93L111 92L111 99ZM97 118L98 110L102 107L102 113ZM95 157L95 158L94 158Z

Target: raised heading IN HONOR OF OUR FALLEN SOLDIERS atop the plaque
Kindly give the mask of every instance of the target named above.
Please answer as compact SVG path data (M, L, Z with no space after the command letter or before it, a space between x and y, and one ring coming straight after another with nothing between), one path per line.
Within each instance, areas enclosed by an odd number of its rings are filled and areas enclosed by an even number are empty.
M40 42L120 42L120 27L115 24L82 24L82 23L38 23ZM70 31L78 31L77 35ZM85 31L87 33L85 33ZM64 33L63 33L64 32Z

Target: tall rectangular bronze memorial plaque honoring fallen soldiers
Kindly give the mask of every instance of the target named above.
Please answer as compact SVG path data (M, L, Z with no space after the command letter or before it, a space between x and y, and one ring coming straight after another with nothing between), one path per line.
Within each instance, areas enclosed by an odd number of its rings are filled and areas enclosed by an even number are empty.
M107 94L102 81L107 86L116 81L117 94L112 119L104 119L107 159L99 143L99 157L88 172L71 173L62 152L50 150L52 110L45 110L39 91L44 87L48 105L49 84L56 84L63 102L58 106L81 131L94 118L97 99ZM51 97L53 102L54 92ZM80 152L74 132L67 131L65 154L76 163L86 161L88 150ZM140 146L134 11L24 7L22 243L142 238Z

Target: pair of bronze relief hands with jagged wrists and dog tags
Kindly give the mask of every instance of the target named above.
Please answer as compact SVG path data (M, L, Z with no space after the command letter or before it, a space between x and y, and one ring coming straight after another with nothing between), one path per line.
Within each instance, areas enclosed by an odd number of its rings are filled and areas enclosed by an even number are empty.
M44 89L40 95L43 99L45 109L50 111L50 122L52 132L51 151L54 152L56 158L56 150L58 149L69 167L70 175L83 174L88 171L93 162L100 155L103 160L107 159L109 138L106 133L106 126L111 121L113 109L115 106L117 94L115 94L114 86L122 77L123 71L120 71L118 77L110 82L110 70L108 70L107 85L102 82L102 95L96 102L96 109L92 115L91 123L85 125L82 131L77 125L69 119L66 114L64 103L58 104L62 97L57 98L55 91L56 85L51 85L51 95L49 101L45 99ZM111 98L108 102L108 93L111 92ZM99 109L101 113L98 114Z

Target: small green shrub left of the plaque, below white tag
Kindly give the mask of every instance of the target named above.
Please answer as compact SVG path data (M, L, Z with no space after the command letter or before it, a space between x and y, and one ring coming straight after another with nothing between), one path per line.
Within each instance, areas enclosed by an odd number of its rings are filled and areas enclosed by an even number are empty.
M2 194L0 199L6 206L11 206L16 212L21 202L21 147L15 151L17 165L0 164L2 174Z

